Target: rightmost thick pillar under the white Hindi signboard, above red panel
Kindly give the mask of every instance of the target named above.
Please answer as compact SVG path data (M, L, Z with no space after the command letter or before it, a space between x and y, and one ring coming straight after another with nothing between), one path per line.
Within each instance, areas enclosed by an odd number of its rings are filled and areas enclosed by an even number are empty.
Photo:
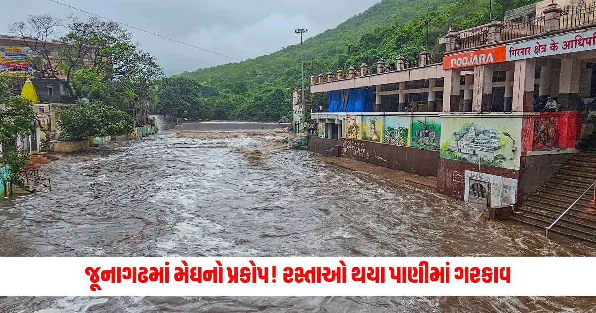
M572 58L561 59L558 95L558 104L561 110L578 110L581 64L582 62L580 60Z

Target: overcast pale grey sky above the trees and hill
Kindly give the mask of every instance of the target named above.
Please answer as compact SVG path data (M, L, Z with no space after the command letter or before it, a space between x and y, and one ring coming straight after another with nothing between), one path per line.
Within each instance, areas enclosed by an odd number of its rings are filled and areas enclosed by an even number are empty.
M300 42L361 13L381 0L57 0L122 23L245 60ZM3 1L0 33L30 14L85 13L48 0ZM176 42L131 30L134 41L153 54L167 75L230 60Z

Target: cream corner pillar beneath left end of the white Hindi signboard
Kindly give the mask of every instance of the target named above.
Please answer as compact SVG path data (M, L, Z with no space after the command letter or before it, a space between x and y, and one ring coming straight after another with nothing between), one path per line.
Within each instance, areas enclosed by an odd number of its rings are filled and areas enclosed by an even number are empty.
M513 69L512 111L534 111L536 59L517 60Z

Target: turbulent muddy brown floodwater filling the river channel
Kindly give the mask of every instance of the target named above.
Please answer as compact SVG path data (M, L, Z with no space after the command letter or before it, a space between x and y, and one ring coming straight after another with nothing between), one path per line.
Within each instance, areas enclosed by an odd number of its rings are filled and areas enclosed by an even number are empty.
M61 156L0 202L0 256L586 256L592 247L263 135L166 133ZM1 200L0 200L1 201ZM545 275L556 274L545 273ZM1 278L0 278L1 279ZM592 312L590 297L0 297L0 312Z

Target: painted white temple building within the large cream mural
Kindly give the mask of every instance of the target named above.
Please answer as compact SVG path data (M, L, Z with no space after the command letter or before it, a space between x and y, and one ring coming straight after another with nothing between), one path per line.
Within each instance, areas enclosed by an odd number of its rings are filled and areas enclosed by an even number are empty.
M458 141L457 151L495 157L495 152L503 147L500 140L501 135L499 135L499 132L492 129L482 131L479 135L476 135L476 128L472 124L468 133Z

